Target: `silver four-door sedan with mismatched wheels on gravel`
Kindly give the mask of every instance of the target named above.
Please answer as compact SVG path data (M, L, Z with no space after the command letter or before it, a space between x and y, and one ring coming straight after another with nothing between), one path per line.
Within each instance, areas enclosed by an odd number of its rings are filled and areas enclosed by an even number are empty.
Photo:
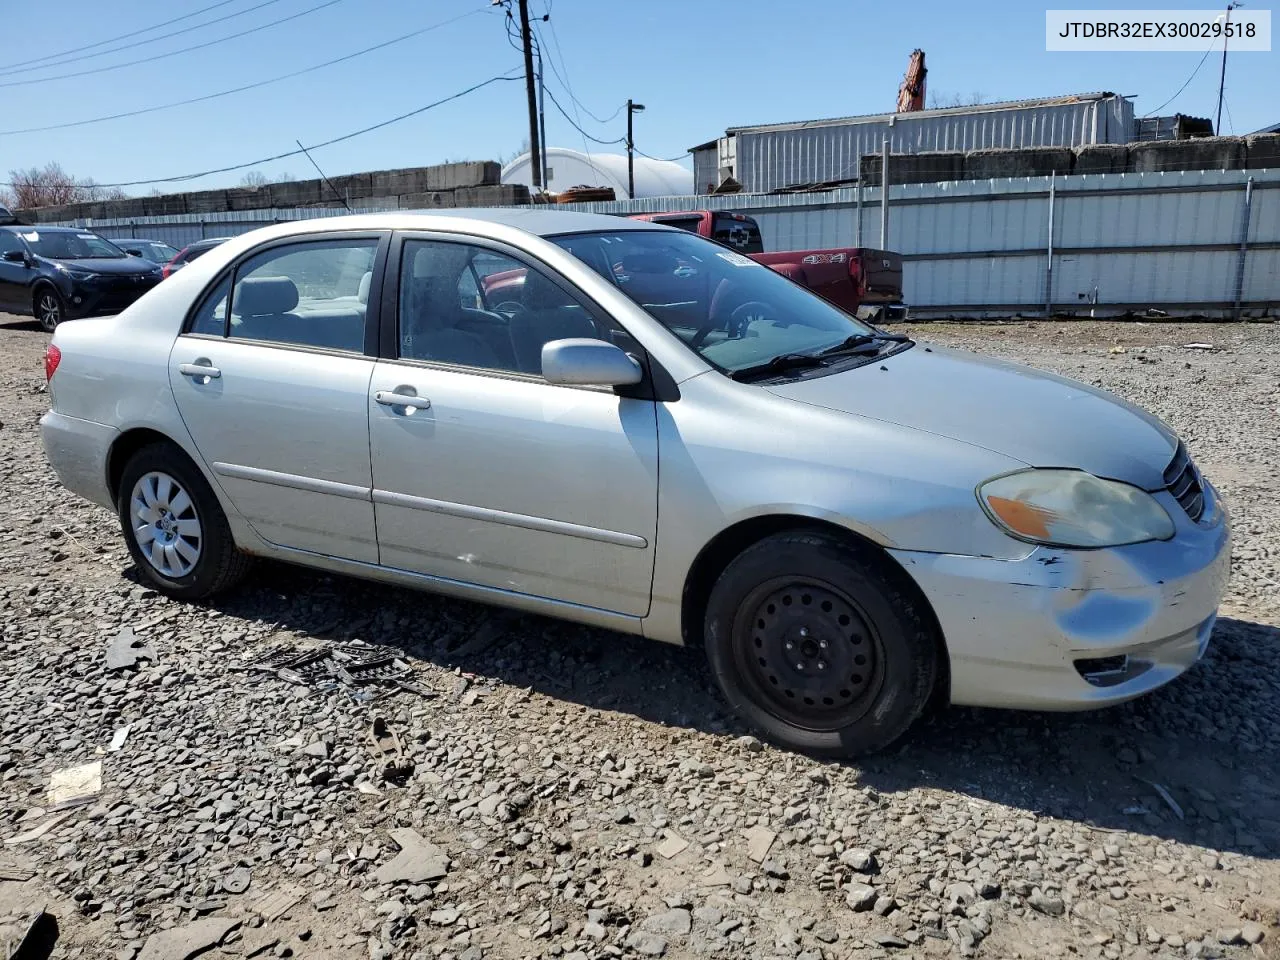
M230 239L49 348L45 449L160 591L252 557L700 644L813 753L1117 703L1208 644L1226 513L1101 390L559 211Z

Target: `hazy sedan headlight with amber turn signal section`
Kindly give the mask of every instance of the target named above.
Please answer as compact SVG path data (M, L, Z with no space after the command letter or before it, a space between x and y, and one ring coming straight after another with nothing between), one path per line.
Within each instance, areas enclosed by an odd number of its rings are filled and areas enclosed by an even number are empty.
M1082 470L1023 470L988 480L978 500L1020 540L1051 547L1120 547L1167 540L1174 521L1137 486Z

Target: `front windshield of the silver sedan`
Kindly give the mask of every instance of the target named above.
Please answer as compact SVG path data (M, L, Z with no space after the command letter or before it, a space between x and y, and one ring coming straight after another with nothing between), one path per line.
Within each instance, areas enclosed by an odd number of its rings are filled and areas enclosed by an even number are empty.
M819 357L877 335L769 268L689 233L620 230L550 239L727 374L780 357Z

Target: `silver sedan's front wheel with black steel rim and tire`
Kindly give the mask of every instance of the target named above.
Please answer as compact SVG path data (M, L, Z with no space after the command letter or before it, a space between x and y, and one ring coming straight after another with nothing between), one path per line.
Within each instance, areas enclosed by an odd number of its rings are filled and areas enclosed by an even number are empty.
M704 625L730 705L769 740L851 758L897 740L929 703L938 630L910 579L870 545L768 536L712 588Z

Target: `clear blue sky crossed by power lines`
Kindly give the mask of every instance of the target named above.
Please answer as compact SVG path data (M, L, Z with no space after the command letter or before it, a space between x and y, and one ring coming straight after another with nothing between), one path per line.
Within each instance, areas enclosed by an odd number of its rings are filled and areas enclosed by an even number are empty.
M142 29L212 3L61 0L50 6L8 0L0 84L155 56L296 14L324 0L273 0L242 17L169 40L56 67L13 69L15 63ZM229 0L155 33L248 10L260 3ZM1046 52L1044 6L1025 0L530 0L530 5L535 14L549 9L554 33L549 24L541 24L548 59L557 56L557 68L586 108L608 118L628 96L648 106L636 118L636 145L653 156L680 154L719 136L728 125L887 111L896 101L908 55L916 46L928 55L931 93L1015 100L1110 90L1138 95L1139 114L1172 96L1202 56ZM1208 5L1169 0L1126 4L1166 9ZM1079 6L1107 4L1094 0ZM384 50L259 90L73 129L0 136L0 179L8 179L10 169L51 160L77 177L92 177L100 183L241 164L296 148L294 138L311 145L413 110L518 68L521 59L508 46L500 12L488 0L337 0L288 23L154 63L0 86L0 102L5 105L0 131L40 127L266 79L468 12L476 13ZM110 46L116 44L67 56ZM1161 113L1212 118L1219 65L1220 56L1211 55L1196 79ZM549 64L547 79L557 99L572 110ZM1234 54L1226 87L1230 119L1224 113L1222 131L1248 133L1280 122L1277 90L1276 52ZM550 102L547 114L550 145L581 148L581 136ZM497 159L520 148L526 125L524 84L495 83L420 116L317 150L315 156L330 175L443 160ZM582 114L582 125L602 140L612 140L622 136L625 118L618 115L600 124ZM257 169L268 175L314 175L302 156ZM178 189L232 186L241 175L207 177Z

